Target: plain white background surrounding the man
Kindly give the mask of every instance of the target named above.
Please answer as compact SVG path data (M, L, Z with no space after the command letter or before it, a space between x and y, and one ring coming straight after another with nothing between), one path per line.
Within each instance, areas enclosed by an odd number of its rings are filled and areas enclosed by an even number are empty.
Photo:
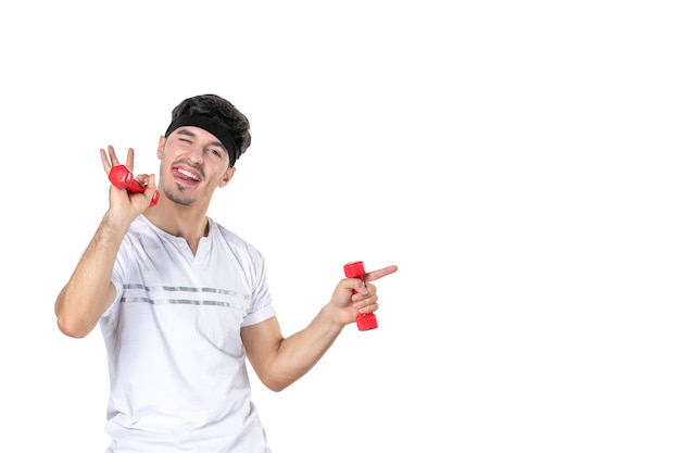
M101 334L53 315L99 149L153 173L215 92L253 144L211 215L267 257L286 335L345 262L400 266L378 329L253 382L275 453L680 451L675 2L146 4L0 7L5 446L104 451Z

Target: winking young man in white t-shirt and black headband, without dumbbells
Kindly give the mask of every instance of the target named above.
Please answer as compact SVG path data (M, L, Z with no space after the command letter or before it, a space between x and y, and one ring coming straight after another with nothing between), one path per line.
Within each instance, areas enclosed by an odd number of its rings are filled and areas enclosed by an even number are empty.
M378 309L372 281L396 270L341 279L311 324L284 338L263 256L206 216L250 140L247 117L227 100L179 103L159 140L158 186L154 175L138 175L143 193L111 187L109 209L56 298L65 335L81 338L98 324L103 332L109 453L269 452L245 358L266 387L285 389L345 325ZM112 147L100 153L109 174L118 158ZM133 149L125 164L133 169Z

